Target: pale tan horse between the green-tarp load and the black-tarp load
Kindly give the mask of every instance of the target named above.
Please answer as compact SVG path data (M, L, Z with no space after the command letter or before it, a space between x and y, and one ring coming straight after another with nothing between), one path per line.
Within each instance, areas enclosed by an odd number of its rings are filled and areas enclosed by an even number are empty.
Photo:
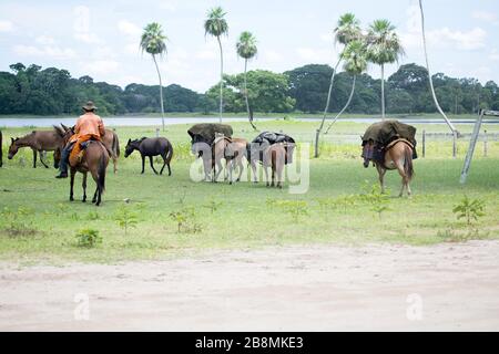
M240 175L236 181L241 180L241 176L244 171L243 157L246 156L246 146L247 140L243 138L230 138L224 136L215 139L212 147L212 169L214 174L213 181L216 181L222 173L222 158L226 162L228 174L228 176L225 176L225 180L228 179L230 184L233 184L232 174L236 167L240 168ZM216 173L216 167L218 167L218 173Z

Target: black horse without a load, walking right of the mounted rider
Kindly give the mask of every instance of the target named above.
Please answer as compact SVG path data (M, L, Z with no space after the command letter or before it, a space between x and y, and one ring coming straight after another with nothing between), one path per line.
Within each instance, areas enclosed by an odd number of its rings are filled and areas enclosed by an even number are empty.
M153 165L153 156L163 157L163 167L161 168L160 175L163 175L163 169L165 166L169 167L169 176L172 176L172 169L170 168L170 162L173 157L173 147L172 144L164 137L143 137L141 139L129 139L125 148L125 157L129 157L133 150L138 150L142 156L142 174L144 173L145 165L145 156L149 156L149 162L151 163L151 168L154 174L157 175L157 171Z

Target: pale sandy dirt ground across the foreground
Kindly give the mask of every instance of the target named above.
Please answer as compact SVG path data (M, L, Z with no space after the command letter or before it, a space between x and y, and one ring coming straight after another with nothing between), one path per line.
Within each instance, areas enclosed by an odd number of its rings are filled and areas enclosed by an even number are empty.
M499 241L3 262L0 330L499 331Z

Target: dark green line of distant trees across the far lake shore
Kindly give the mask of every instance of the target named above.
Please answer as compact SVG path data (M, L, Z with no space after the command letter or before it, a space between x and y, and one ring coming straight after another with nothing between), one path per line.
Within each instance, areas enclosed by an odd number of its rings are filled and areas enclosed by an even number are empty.
M159 113L159 85L130 84L124 90L90 76L71 77L67 70L10 65L0 72L0 114L59 115L80 113L82 102L93 100L102 115ZM333 69L310 64L285 73L247 72L247 94L254 112L318 113L324 110ZM478 108L499 111L499 90L493 81L485 85L476 79L452 79L442 73L432 76L444 111L475 113ZM352 92L352 76L336 75L329 112L340 111ZM387 113L432 113L435 104L425 67L401 65L386 83ZM224 75L224 111L246 111L244 74ZM211 113L218 108L220 84L205 94L180 85L163 90L165 112ZM348 113L379 114L380 83L368 74L357 76L356 90Z

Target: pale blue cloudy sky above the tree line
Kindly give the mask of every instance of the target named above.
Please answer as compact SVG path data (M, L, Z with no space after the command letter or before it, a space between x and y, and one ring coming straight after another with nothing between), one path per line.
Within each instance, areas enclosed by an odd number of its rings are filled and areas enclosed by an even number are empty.
M217 43L203 28L215 6L226 11L230 27L222 39L228 74L244 70L235 43L246 30L258 41L249 70L333 66L342 50L333 30L345 12L355 13L363 28L376 19L396 25L406 55L387 66L387 75L405 63L425 64L417 0L2 0L0 71L17 62L35 63L123 87L157 84L151 56L139 50L142 29L155 21L169 37L169 52L160 63L163 84L205 92L220 77ZM424 6L431 71L499 83L499 1L425 0ZM368 73L380 76L375 65Z

